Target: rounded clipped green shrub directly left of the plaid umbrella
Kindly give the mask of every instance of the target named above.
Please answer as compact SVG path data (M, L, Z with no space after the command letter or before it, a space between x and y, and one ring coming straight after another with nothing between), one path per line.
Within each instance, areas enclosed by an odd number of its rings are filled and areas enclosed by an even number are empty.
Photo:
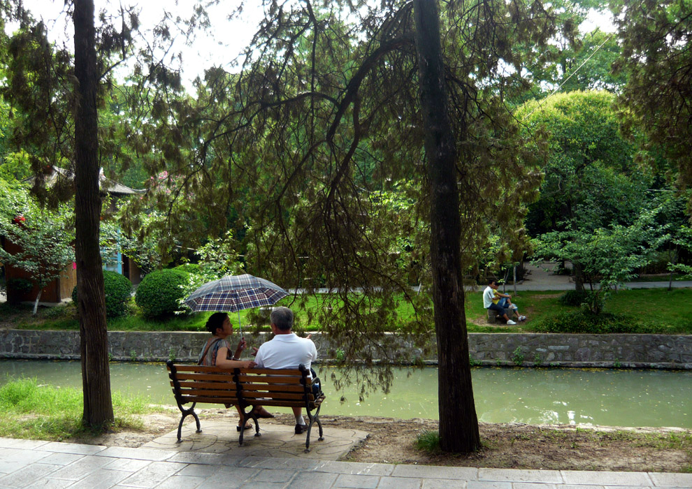
M189 273L182 270L157 270L147 274L137 287L135 302L150 318L166 316L180 310L178 300L185 296L182 286L189 282Z

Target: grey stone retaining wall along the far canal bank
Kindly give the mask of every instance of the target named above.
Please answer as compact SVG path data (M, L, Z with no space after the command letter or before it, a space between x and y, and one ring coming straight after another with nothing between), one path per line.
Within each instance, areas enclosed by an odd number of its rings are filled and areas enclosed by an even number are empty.
M113 360L182 362L197 359L208 333L108 332ZM247 334L248 344L264 342L265 333ZM321 360L338 349L329 337L313 333ZM434 346L434 337L431 346ZM526 367L628 367L692 370L691 335L559 335L542 333L470 333L473 365L522 365ZM435 353L421 358L421 349L398 342L403 363L437 363ZM434 347L431 351L435 351ZM77 331L0 331L0 358L79 358Z

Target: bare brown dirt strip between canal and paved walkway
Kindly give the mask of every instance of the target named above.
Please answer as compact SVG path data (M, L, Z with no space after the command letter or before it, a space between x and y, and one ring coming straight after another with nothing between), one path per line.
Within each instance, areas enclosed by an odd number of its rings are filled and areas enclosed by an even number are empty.
M202 410L200 420L237 419L229 411ZM371 416L320 416L330 426L368 432L366 441L347 454L353 462L405 463L513 469L613 470L636 472L692 472L692 430L653 428L576 428L567 425L481 424L482 448L470 455L428 453L415 447L417 435L438 429L426 419ZM178 428L175 411L144 416L141 431L122 431L79 440L108 446L140 446ZM292 424L292 416L279 414L263 423Z

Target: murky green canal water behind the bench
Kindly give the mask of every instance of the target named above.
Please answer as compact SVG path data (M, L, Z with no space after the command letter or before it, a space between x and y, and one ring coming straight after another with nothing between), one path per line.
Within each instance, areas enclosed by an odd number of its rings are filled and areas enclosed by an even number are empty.
M334 367L317 367L327 395L322 414L438 417L434 367L395 369L391 392L363 400L356 386L336 391L329 380ZM111 363L110 374L114 391L175 404L163 363ZM58 387L82 385L79 362L0 360L0 384L20 377ZM475 367L472 377L478 418L486 423L692 428L692 372Z

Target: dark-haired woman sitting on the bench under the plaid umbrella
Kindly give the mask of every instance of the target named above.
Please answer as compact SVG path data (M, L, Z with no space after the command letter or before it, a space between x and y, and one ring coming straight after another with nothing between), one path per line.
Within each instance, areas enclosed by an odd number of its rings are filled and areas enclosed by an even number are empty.
M212 337L204 344L204 348L197 360L197 365L216 366L224 370L254 367L252 360L240 360L240 355L243 354L246 346L245 338L240 338L240 342L238 342L236 347L236 353L231 356L231 345L229 344L228 337L233 333L233 326L226 312L215 312L209 316L205 327L212 334ZM230 405L226 407L230 407ZM236 406L236 409L238 409L238 416L240 416L240 422L236 428L240 431L243 425L243 411L238 406ZM254 407L252 411L258 418L274 417L273 414L261 406ZM250 428L252 428L252 423L246 423L245 429L249 430Z

